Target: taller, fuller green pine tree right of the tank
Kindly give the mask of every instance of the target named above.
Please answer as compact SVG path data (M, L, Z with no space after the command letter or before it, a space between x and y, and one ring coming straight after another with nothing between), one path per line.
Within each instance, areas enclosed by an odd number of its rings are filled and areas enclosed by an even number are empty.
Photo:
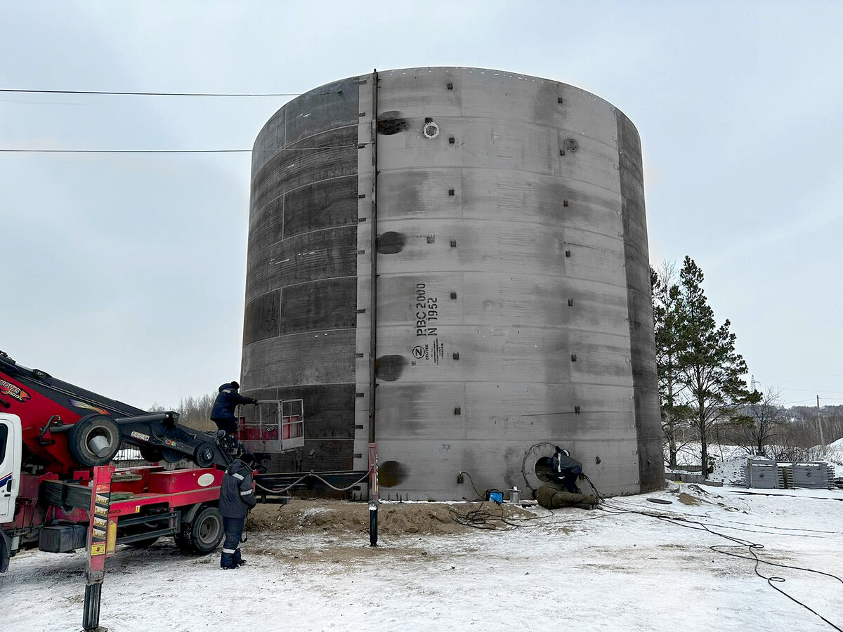
M714 311L702 290L704 276L694 260L685 256L679 272L681 319L677 326L676 367L679 383L701 444L702 472L708 478L708 444L718 423L740 418L739 409L757 403L760 393L750 392L741 376L744 358L735 351L737 336L731 323L717 327Z

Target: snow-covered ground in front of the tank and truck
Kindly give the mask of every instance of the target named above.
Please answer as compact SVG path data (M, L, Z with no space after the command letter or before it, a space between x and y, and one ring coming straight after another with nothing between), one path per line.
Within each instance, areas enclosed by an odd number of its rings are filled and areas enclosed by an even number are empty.
M756 576L754 560L709 548L734 542L653 515L764 544L762 560L843 577L843 491L672 487L608 501L647 516L537 508L548 517L512 531L384 536L376 549L365 533L251 533L239 570L221 570L218 554L185 557L168 540L120 547L101 624L111 632L832 629ZM0 576L0 629L79 629L83 567L83 554L13 558ZM843 627L843 582L759 570L785 578L774 586Z

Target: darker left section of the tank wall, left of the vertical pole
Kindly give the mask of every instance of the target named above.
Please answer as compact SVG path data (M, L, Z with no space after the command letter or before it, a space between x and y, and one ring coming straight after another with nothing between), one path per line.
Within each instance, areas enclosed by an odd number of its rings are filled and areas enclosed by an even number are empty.
M252 154L242 392L303 399L308 424L277 470L353 465L357 81L286 104Z

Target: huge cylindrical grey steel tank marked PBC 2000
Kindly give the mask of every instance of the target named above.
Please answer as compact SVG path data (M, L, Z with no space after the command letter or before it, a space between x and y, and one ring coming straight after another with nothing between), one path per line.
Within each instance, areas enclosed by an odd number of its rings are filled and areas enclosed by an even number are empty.
M554 445L605 493L652 490L648 270L611 104L479 68L343 79L255 142L243 392L303 399L275 467L366 469L374 441L384 498L534 488Z

